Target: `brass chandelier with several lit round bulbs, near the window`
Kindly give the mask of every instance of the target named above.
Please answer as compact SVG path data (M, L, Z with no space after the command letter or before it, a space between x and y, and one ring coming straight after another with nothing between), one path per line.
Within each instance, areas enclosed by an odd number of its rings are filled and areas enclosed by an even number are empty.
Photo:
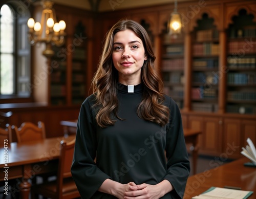
M46 49L42 52L46 57L52 57L52 46L61 46L65 41L66 23L63 20L56 22L53 2L45 1L42 5L41 21L36 22L33 18L28 19L29 40L31 45L46 43Z

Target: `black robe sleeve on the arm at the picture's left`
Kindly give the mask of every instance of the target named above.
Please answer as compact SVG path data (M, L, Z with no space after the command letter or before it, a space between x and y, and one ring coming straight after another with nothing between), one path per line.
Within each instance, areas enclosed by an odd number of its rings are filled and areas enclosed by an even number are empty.
M82 198L91 198L110 176L102 172L94 162L97 150L96 120L93 98L87 98L80 108L77 122L72 177Z

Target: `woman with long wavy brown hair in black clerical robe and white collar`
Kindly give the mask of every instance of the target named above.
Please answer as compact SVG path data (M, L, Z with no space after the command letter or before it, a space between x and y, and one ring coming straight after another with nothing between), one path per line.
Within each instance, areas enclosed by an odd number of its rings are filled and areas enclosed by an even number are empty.
M78 118L71 171L82 198L183 197L190 168L181 115L154 61L135 21L107 33Z

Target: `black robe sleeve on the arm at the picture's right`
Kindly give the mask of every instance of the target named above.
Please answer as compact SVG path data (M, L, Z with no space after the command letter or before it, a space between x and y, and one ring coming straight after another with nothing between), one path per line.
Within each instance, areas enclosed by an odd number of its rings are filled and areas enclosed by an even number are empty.
M170 192L172 198L183 198L190 164L183 134L180 109L173 99L170 99L170 120L166 129L166 158L168 180L174 187Z

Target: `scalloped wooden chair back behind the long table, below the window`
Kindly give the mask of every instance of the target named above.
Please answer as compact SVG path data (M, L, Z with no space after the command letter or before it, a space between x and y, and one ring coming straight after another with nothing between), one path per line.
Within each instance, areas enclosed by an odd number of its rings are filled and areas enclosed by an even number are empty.
M18 143L33 140L44 140L46 138L46 130L44 122L38 122L37 125L31 122L24 122L20 127L13 126L17 136Z

